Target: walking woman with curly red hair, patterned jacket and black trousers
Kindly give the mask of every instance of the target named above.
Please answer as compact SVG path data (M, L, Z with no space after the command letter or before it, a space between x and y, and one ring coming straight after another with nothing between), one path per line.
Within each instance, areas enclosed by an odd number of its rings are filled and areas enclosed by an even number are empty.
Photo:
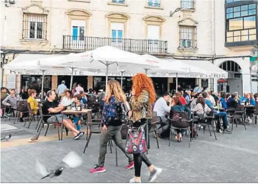
M156 93L151 78L146 74L136 74L133 78L131 109L129 116L132 117L134 126L140 127L147 123L148 119L152 118L151 104L156 100ZM135 176L130 180L130 183L142 183L141 167L142 161L149 169L148 182L153 182L161 173L162 169L154 167L144 153L133 154Z

